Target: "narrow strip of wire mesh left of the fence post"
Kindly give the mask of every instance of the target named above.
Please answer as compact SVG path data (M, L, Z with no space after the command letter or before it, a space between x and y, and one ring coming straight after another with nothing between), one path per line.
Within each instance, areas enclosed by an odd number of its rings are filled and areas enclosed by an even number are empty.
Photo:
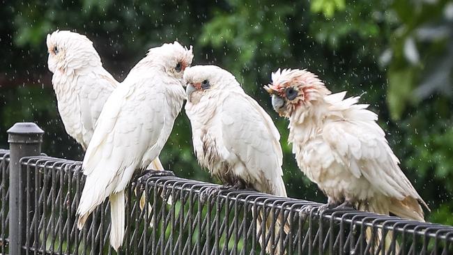
M0 254L8 253L9 151L0 149Z

